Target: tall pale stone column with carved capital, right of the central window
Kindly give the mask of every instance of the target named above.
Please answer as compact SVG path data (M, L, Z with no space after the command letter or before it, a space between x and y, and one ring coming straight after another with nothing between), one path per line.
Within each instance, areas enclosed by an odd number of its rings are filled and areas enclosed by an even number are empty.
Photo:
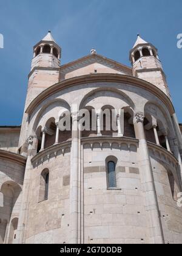
M145 210L149 216L150 243L163 244L164 234L161 224L160 209L158 205L157 192L150 162L150 155L144 132L144 113L136 113L133 124L135 127L136 138L139 140L138 164L140 166L141 185L144 190Z

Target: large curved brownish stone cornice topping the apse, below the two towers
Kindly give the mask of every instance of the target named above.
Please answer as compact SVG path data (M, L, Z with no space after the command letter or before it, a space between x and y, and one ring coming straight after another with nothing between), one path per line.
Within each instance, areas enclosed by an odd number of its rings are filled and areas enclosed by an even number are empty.
M142 80L133 76L126 76L121 74L89 74L84 76L73 77L70 79L63 80L58 82L55 85L47 88L42 91L29 105L29 107L25 110L25 113L29 115L32 114L33 110L41 104L44 99L48 98L50 95L57 93L65 88L73 87L75 85L83 85L83 84L91 84L91 83L99 83L99 82L110 82L110 83L122 83L129 84L135 87L143 88L150 93L154 94L159 98L168 108L170 115L175 113L174 106L170 99L166 96L163 91L161 91L158 87L153 84L150 84L146 80Z

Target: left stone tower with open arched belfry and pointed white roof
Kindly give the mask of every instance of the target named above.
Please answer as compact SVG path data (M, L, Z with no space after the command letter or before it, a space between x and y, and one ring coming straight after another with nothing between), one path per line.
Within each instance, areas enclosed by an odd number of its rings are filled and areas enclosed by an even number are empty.
M25 109L38 96L39 93L59 81L59 66L61 58L61 48L56 44L50 31L33 47L33 59L29 74L27 98ZM27 148L25 141L27 115L24 113L21 127L21 137L19 148L24 152Z

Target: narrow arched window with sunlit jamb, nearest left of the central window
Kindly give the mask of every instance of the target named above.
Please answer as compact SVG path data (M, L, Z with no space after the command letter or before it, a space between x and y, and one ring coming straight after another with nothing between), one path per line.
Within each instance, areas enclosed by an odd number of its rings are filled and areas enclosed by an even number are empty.
M49 193L49 169L44 169L41 173L40 188L39 188L39 202L48 199Z

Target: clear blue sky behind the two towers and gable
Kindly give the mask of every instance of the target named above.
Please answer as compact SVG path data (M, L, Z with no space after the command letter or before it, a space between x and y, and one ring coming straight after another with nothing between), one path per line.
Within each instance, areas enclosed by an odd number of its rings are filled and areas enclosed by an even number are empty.
M21 124L33 45L51 30L61 63L98 54L130 65L136 34L157 48L182 123L181 0L0 0L0 125Z

